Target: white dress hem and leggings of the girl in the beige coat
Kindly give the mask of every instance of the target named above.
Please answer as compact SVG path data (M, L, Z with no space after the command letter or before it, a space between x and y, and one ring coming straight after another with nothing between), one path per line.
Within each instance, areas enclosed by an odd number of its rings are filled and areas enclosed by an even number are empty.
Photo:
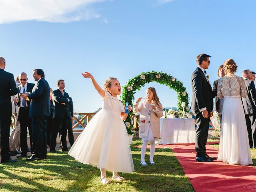
M153 137L151 126L149 127L149 130L148 130L148 136L142 138L142 148L141 148L141 157L140 157L141 162L145 161L145 154L146 154L148 142L150 142L150 159L149 159L149 162L150 162L150 161L153 161L154 159L154 153L156 149L156 144L155 144L156 138Z

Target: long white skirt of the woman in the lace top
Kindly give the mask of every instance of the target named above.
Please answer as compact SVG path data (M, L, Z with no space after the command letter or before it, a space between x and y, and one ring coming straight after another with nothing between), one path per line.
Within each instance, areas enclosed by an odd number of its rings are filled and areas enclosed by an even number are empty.
M218 160L229 164L252 164L244 109L240 97L224 98Z

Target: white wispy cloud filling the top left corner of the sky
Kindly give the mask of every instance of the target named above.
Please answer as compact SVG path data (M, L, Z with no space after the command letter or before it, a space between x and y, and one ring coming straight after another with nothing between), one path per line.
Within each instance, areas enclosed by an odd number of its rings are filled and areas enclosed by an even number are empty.
M26 20L72 22L100 17L89 6L105 0L0 0L0 24Z

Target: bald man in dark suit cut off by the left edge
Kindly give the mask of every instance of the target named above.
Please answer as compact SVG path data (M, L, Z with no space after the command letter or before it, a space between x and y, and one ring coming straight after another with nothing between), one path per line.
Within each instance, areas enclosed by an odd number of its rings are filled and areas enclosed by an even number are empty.
M1 132L1 162L16 162L10 158L9 134L12 118L11 96L17 94L14 76L4 71L5 59L0 57L0 132Z

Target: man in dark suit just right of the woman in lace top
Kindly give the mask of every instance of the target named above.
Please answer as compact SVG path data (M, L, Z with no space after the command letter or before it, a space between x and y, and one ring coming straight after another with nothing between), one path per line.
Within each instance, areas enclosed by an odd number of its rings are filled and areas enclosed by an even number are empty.
M242 97L244 114L249 137L250 148L256 148L256 89L254 82L251 80L252 73L250 70L243 70L242 76L246 85L247 97Z

